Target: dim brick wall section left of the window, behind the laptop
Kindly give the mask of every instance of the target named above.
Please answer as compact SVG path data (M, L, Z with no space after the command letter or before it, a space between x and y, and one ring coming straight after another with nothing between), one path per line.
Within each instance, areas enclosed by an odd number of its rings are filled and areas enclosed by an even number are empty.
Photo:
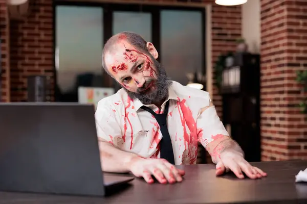
M27 100L27 77L47 75L53 82L53 7L36 0L25 20L10 21L11 101Z

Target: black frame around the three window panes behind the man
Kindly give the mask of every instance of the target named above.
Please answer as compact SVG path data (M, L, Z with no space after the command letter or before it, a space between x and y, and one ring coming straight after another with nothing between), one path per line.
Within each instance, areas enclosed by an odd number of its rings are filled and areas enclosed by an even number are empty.
M155 45L159 58L158 61L161 62L163 53L161 50L161 11L162 10L176 10L176 11L199 11L202 13L202 73L206 74L206 8L205 7L183 7L183 6L165 6L165 5L142 5L142 4L120 4L120 3L90 3L90 2L74 2L65 0L55 0L53 1L53 63L54 63L54 88L57 83L57 71L55 67L55 46L56 46L56 7L57 6L80 6L80 7L100 7L103 9L102 22L103 22L103 45L105 42L113 35L113 12L115 11L125 11L125 12L146 12L151 13L151 38L152 43ZM158 32L157 32L158 31ZM159 33L159 35L157 35ZM102 68L102 67L101 67ZM194 71L194 70L192 70ZM113 83L112 83L113 81ZM109 87L115 87L114 80L109 80ZM55 90L55 89L54 89ZM56 96L56 93L55 93Z

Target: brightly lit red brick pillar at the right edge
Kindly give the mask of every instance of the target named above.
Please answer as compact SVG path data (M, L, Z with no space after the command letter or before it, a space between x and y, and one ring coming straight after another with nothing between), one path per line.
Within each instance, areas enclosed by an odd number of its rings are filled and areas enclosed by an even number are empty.
M307 159L306 93L295 81L307 69L307 1L261 0L261 160Z

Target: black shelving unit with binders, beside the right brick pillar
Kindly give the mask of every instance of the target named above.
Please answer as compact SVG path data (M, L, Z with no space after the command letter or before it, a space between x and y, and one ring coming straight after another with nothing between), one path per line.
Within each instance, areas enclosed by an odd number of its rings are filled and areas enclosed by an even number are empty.
M260 56L236 53L223 70L223 123L245 152L248 162L260 161ZM225 83L226 82L226 83Z

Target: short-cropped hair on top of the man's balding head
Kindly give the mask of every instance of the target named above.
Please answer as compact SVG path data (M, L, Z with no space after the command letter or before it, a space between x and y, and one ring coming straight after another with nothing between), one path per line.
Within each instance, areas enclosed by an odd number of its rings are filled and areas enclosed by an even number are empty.
M106 53L114 53L116 51L116 45L117 42L120 40L125 40L129 44L133 45L137 50L140 52L143 52L147 55L149 55L147 46L146 46L146 41L140 36L139 34L133 33L133 32L128 32L124 31L121 33L118 33L111 38L109 38L106 43L104 44L103 50L102 50L102 67L104 70L109 74L107 67L105 66L105 61L104 61L104 56Z

